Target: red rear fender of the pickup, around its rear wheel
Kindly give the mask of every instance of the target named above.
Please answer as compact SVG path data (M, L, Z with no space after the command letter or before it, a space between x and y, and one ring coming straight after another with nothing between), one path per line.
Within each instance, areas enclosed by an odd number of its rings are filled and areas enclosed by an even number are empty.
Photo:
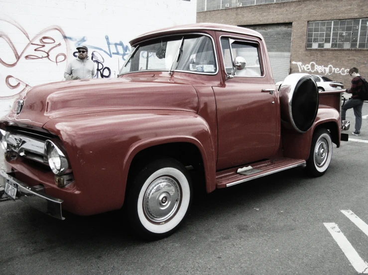
M332 107L320 105L317 117L312 127L304 134L296 133L290 129L283 131L283 155L285 157L307 160L311 149L313 133L318 127L326 127L330 130L333 142L340 146L341 121L339 112Z

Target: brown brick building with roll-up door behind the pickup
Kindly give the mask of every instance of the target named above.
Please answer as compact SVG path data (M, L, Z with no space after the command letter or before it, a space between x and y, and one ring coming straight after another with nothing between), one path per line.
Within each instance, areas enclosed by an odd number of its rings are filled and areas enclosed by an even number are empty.
M306 72L350 87L352 67L368 79L367 0L197 0L197 22L260 32L275 82Z

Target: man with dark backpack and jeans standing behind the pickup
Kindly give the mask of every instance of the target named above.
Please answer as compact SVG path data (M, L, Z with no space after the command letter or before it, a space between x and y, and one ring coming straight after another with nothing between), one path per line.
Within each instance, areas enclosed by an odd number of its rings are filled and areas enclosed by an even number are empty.
M341 107L341 120L345 120L346 111L353 108L355 115L355 131L353 132L353 135L359 136L361 134L362 127L363 103L364 100L367 100L367 81L359 74L359 70L355 67L349 69L349 74L353 77L352 87L350 89L346 89L346 92L351 93L352 97L350 100L345 102L343 107Z

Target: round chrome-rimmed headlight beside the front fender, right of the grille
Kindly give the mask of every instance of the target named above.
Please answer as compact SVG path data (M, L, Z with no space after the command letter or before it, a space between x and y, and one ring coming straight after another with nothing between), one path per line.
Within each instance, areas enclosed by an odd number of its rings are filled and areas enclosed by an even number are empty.
M69 164L66 159L64 153L60 150L60 148L51 140L46 140L45 142L47 159L50 165L52 172L55 175L61 175L68 169Z

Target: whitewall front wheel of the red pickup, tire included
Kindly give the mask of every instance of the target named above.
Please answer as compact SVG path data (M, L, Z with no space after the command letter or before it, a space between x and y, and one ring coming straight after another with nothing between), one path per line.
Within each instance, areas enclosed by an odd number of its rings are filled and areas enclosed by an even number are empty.
M147 240L175 232L192 201L188 171L173 158L150 162L136 175L128 194L127 210L134 231Z

